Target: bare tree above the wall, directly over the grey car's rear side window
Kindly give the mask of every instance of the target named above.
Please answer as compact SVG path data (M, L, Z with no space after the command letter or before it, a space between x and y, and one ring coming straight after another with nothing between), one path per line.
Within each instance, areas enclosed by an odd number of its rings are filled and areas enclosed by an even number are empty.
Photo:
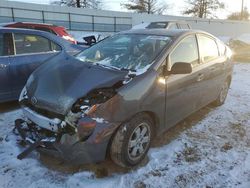
M188 0L190 8L183 13L197 16L199 18L214 17L213 13L218 9L225 7L224 3L219 0Z

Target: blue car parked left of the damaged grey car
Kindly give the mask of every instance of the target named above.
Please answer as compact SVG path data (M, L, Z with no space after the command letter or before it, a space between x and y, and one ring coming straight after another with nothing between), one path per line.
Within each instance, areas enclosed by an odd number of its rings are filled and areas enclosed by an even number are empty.
M84 49L48 32L0 27L0 102L17 100L29 75L43 62Z

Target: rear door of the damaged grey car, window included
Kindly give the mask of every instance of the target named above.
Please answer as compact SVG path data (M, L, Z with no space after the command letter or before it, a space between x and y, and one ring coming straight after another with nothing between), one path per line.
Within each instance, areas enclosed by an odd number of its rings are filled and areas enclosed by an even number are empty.
M216 40L205 34L198 34L198 44L205 77L201 93L201 106L215 100L219 95L223 80L226 56L220 55Z

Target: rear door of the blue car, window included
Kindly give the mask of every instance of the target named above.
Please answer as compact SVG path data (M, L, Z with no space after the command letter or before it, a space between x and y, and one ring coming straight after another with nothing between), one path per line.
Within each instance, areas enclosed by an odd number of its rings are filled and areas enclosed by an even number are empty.
M15 55L10 57L12 89L19 96L29 75L47 59L61 51L51 40L35 34L14 33Z

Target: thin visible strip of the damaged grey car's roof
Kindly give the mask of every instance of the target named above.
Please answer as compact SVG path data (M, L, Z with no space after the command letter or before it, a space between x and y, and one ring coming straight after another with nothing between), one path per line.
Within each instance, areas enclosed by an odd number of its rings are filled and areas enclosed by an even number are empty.
M144 34L144 35L161 35L169 37L179 37L186 34L203 33L210 35L204 31L194 30L194 29L134 29L121 32L123 34Z

